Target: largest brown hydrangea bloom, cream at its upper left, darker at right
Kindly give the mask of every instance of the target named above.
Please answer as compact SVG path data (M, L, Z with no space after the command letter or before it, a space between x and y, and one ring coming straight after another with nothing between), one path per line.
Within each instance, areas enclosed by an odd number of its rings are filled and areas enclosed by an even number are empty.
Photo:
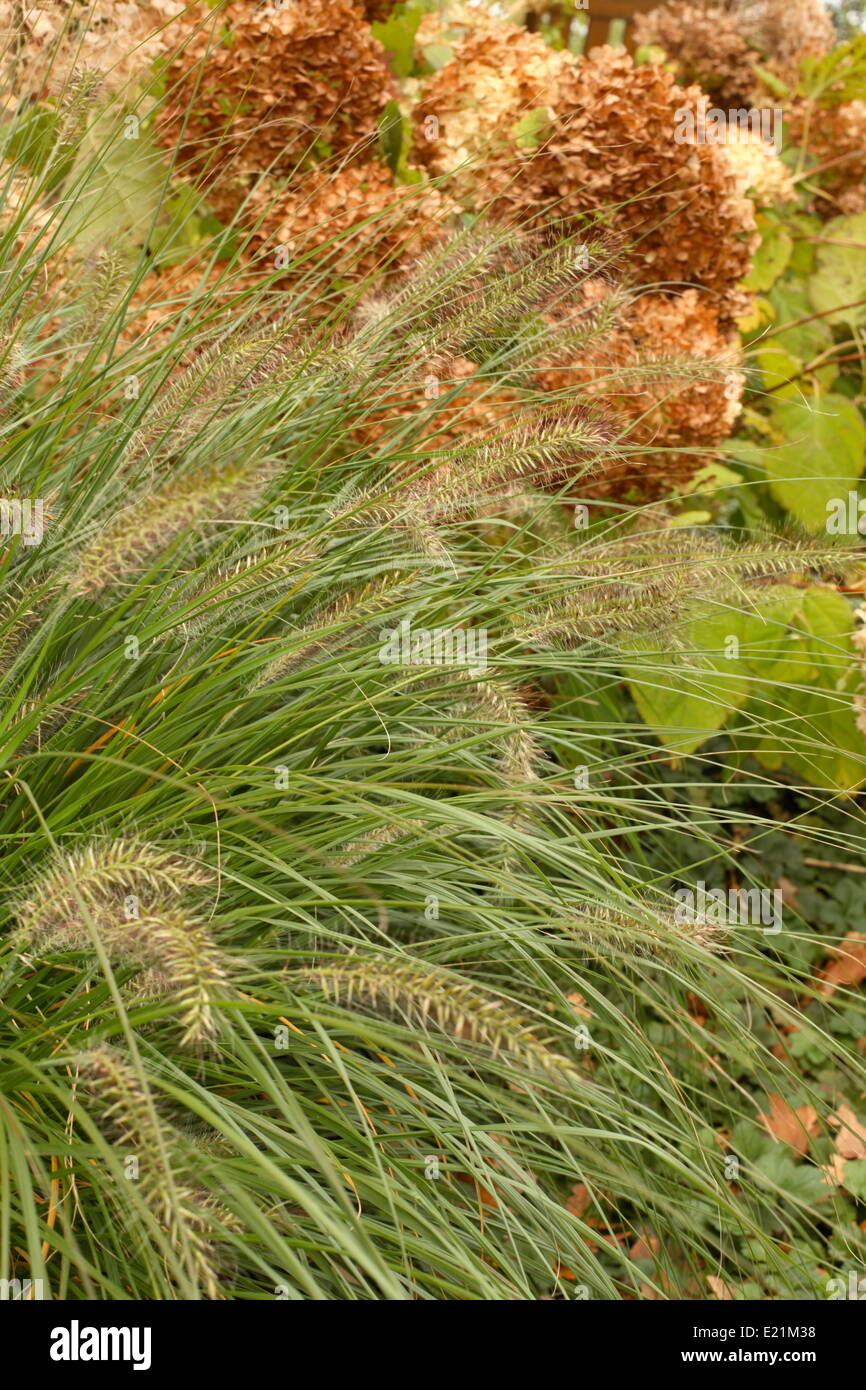
M496 133L484 158L455 170L460 153L475 153L463 135L480 96L489 97ZM721 317L733 318L744 309L737 285L756 245L755 210L723 146L674 138L677 111L706 106L696 88L676 86L653 64L635 67L623 50L575 60L532 35L480 33L425 83L416 147L434 172L455 170L446 186L464 206L524 227L557 220L580 228L598 214L632 243L631 261L645 279L703 286ZM527 113L544 122L544 108L548 124L521 147L517 122ZM428 117L438 138L425 138Z

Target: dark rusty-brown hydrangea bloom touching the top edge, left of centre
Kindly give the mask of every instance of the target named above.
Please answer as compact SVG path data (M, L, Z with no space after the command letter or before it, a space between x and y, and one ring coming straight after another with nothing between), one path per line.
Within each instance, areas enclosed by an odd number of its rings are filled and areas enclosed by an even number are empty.
M197 4L183 25L160 122L182 168L213 181L228 164L291 175L310 156L368 158L395 89L350 0L289 0L284 10L234 0L215 17Z

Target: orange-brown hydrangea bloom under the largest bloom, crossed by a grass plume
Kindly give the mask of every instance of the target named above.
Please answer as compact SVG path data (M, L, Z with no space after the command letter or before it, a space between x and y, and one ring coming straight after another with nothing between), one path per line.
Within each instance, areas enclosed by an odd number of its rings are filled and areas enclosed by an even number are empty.
M606 288L594 284L589 292ZM731 434L744 385L738 361L735 335L689 289L638 296L607 338L580 360L542 366L537 384L544 391L582 385L621 423L628 445L655 446L588 489L652 499L685 482Z

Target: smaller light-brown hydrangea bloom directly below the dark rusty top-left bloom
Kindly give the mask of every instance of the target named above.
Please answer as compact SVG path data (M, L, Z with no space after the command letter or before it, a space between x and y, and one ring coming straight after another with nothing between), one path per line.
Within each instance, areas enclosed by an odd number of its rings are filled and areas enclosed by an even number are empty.
M384 164L322 167L282 192L261 182L250 195L246 220L256 224L252 249L259 257L289 260L320 249L316 268L360 279L393 271L405 254L416 254L443 235L449 206L435 189L399 185ZM278 268L278 267L277 267Z

